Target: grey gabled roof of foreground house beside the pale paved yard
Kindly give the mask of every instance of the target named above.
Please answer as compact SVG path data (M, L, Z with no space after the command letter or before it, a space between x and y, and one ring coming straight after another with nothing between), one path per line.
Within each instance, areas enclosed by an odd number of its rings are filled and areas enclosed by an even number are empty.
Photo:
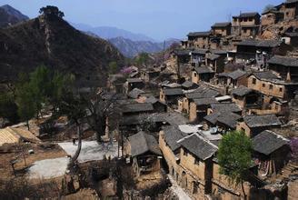
M153 153L154 155L162 155L153 135L148 135L141 131L128 137L128 141L131 145L132 156L143 155L148 152Z

